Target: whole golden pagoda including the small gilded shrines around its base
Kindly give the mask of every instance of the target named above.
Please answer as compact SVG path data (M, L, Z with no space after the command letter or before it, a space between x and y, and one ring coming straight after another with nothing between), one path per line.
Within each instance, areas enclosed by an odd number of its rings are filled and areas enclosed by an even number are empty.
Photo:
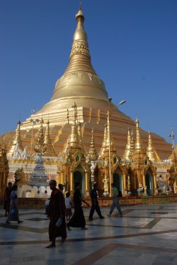
M8 150L8 178L13 180L14 173L23 166L28 178L35 164L34 149L44 153L49 178L65 183L71 193L74 183L81 182L82 193L89 195L93 160L94 181L101 194L105 191L111 195L110 183L114 181L123 195L136 194L140 182L143 188L153 184L149 195L155 195L156 173L159 170L166 178L170 163L161 160L169 158L171 146L161 136L140 129L138 119L135 123L109 101L104 82L91 65L84 19L80 5L69 65L57 80L50 101L18 124L16 131L0 136ZM35 122L41 117L41 123ZM45 134L43 123L47 124ZM13 157L16 146L25 151L23 156Z

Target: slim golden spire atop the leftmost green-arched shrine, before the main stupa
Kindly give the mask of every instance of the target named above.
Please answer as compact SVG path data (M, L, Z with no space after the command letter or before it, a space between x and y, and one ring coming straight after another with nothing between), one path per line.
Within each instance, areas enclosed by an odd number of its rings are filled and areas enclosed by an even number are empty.
M71 148L81 149L80 141L79 141L79 134L78 134L78 129L77 129L76 102L74 102L72 108L73 108L72 131L71 131L71 134L69 136L68 145Z

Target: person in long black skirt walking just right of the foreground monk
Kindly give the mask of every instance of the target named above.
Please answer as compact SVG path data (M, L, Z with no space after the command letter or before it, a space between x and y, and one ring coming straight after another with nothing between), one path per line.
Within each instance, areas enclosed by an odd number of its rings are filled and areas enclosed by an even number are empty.
M81 198L81 184L76 183L75 191L74 191L74 215L72 216L71 220L67 224L67 229L71 230L70 227L81 227L81 229L86 228L86 220L84 217L84 212L81 207L81 202L84 202L88 207L90 206L85 200Z

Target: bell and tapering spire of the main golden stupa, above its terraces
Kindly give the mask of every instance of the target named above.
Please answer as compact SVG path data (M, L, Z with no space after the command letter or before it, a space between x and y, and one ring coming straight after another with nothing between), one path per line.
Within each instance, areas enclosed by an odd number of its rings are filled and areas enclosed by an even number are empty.
M56 103L59 104L60 108L68 109L75 95L77 107L84 104L84 107L91 108L96 106L94 102L99 102L99 108L103 105L105 109L108 104L108 93L105 90L104 82L98 77L91 65L84 20L84 13L80 4L79 11L76 13L76 30L73 36L69 65L62 77L57 80L52 98L46 109L50 109L50 106L52 109L56 109Z

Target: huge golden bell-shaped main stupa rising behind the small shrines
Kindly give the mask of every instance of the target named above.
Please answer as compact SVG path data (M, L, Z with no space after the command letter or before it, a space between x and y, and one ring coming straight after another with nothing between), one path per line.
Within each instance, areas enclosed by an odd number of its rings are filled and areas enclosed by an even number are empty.
M96 151L100 152L101 150L104 124L108 112L108 92L105 90L104 82L98 77L91 65L91 55L84 29L84 19L84 13L80 6L78 13L76 13L76 30L74 32L67 70L57 80L50 101L21 124L21 141L23 146L27 147L28 150L31 148L31 143L34 148L40 127L38 123L31 124L31 120L40 119L41 116L45 124L48 120L50 121L50 139L55 147L55 153L59 155L64 150L64 146L67 145L68 135L70 134L71 123L68 121L72 119L72 105L74 102L76 102L77 122L81 123L82 137L86 150L89 151L92 128L95 131ZM98 42L99 38L95 41ZM101 58L101 60L104 60L104 58ZM109 65L109 68L111 68L111 65ZM116 84L115 87L117 87ZM110 103L110 109L114 106L113 103ZM110 117L110 131L113 136L115 149L120 157L122 157L127 144L127 127L135 131L134 121L120 112L119 109L114 108ZM8 144L8 151L13 144L14 134L14 131L10 131L1 136L4 143ZM146 148L146 131L141 130L141 138ZM153 134L153 139L154 148L159 156L162 159L168 158L171 154L170 145L156 134ZM106 144L106 142L104 143Z

